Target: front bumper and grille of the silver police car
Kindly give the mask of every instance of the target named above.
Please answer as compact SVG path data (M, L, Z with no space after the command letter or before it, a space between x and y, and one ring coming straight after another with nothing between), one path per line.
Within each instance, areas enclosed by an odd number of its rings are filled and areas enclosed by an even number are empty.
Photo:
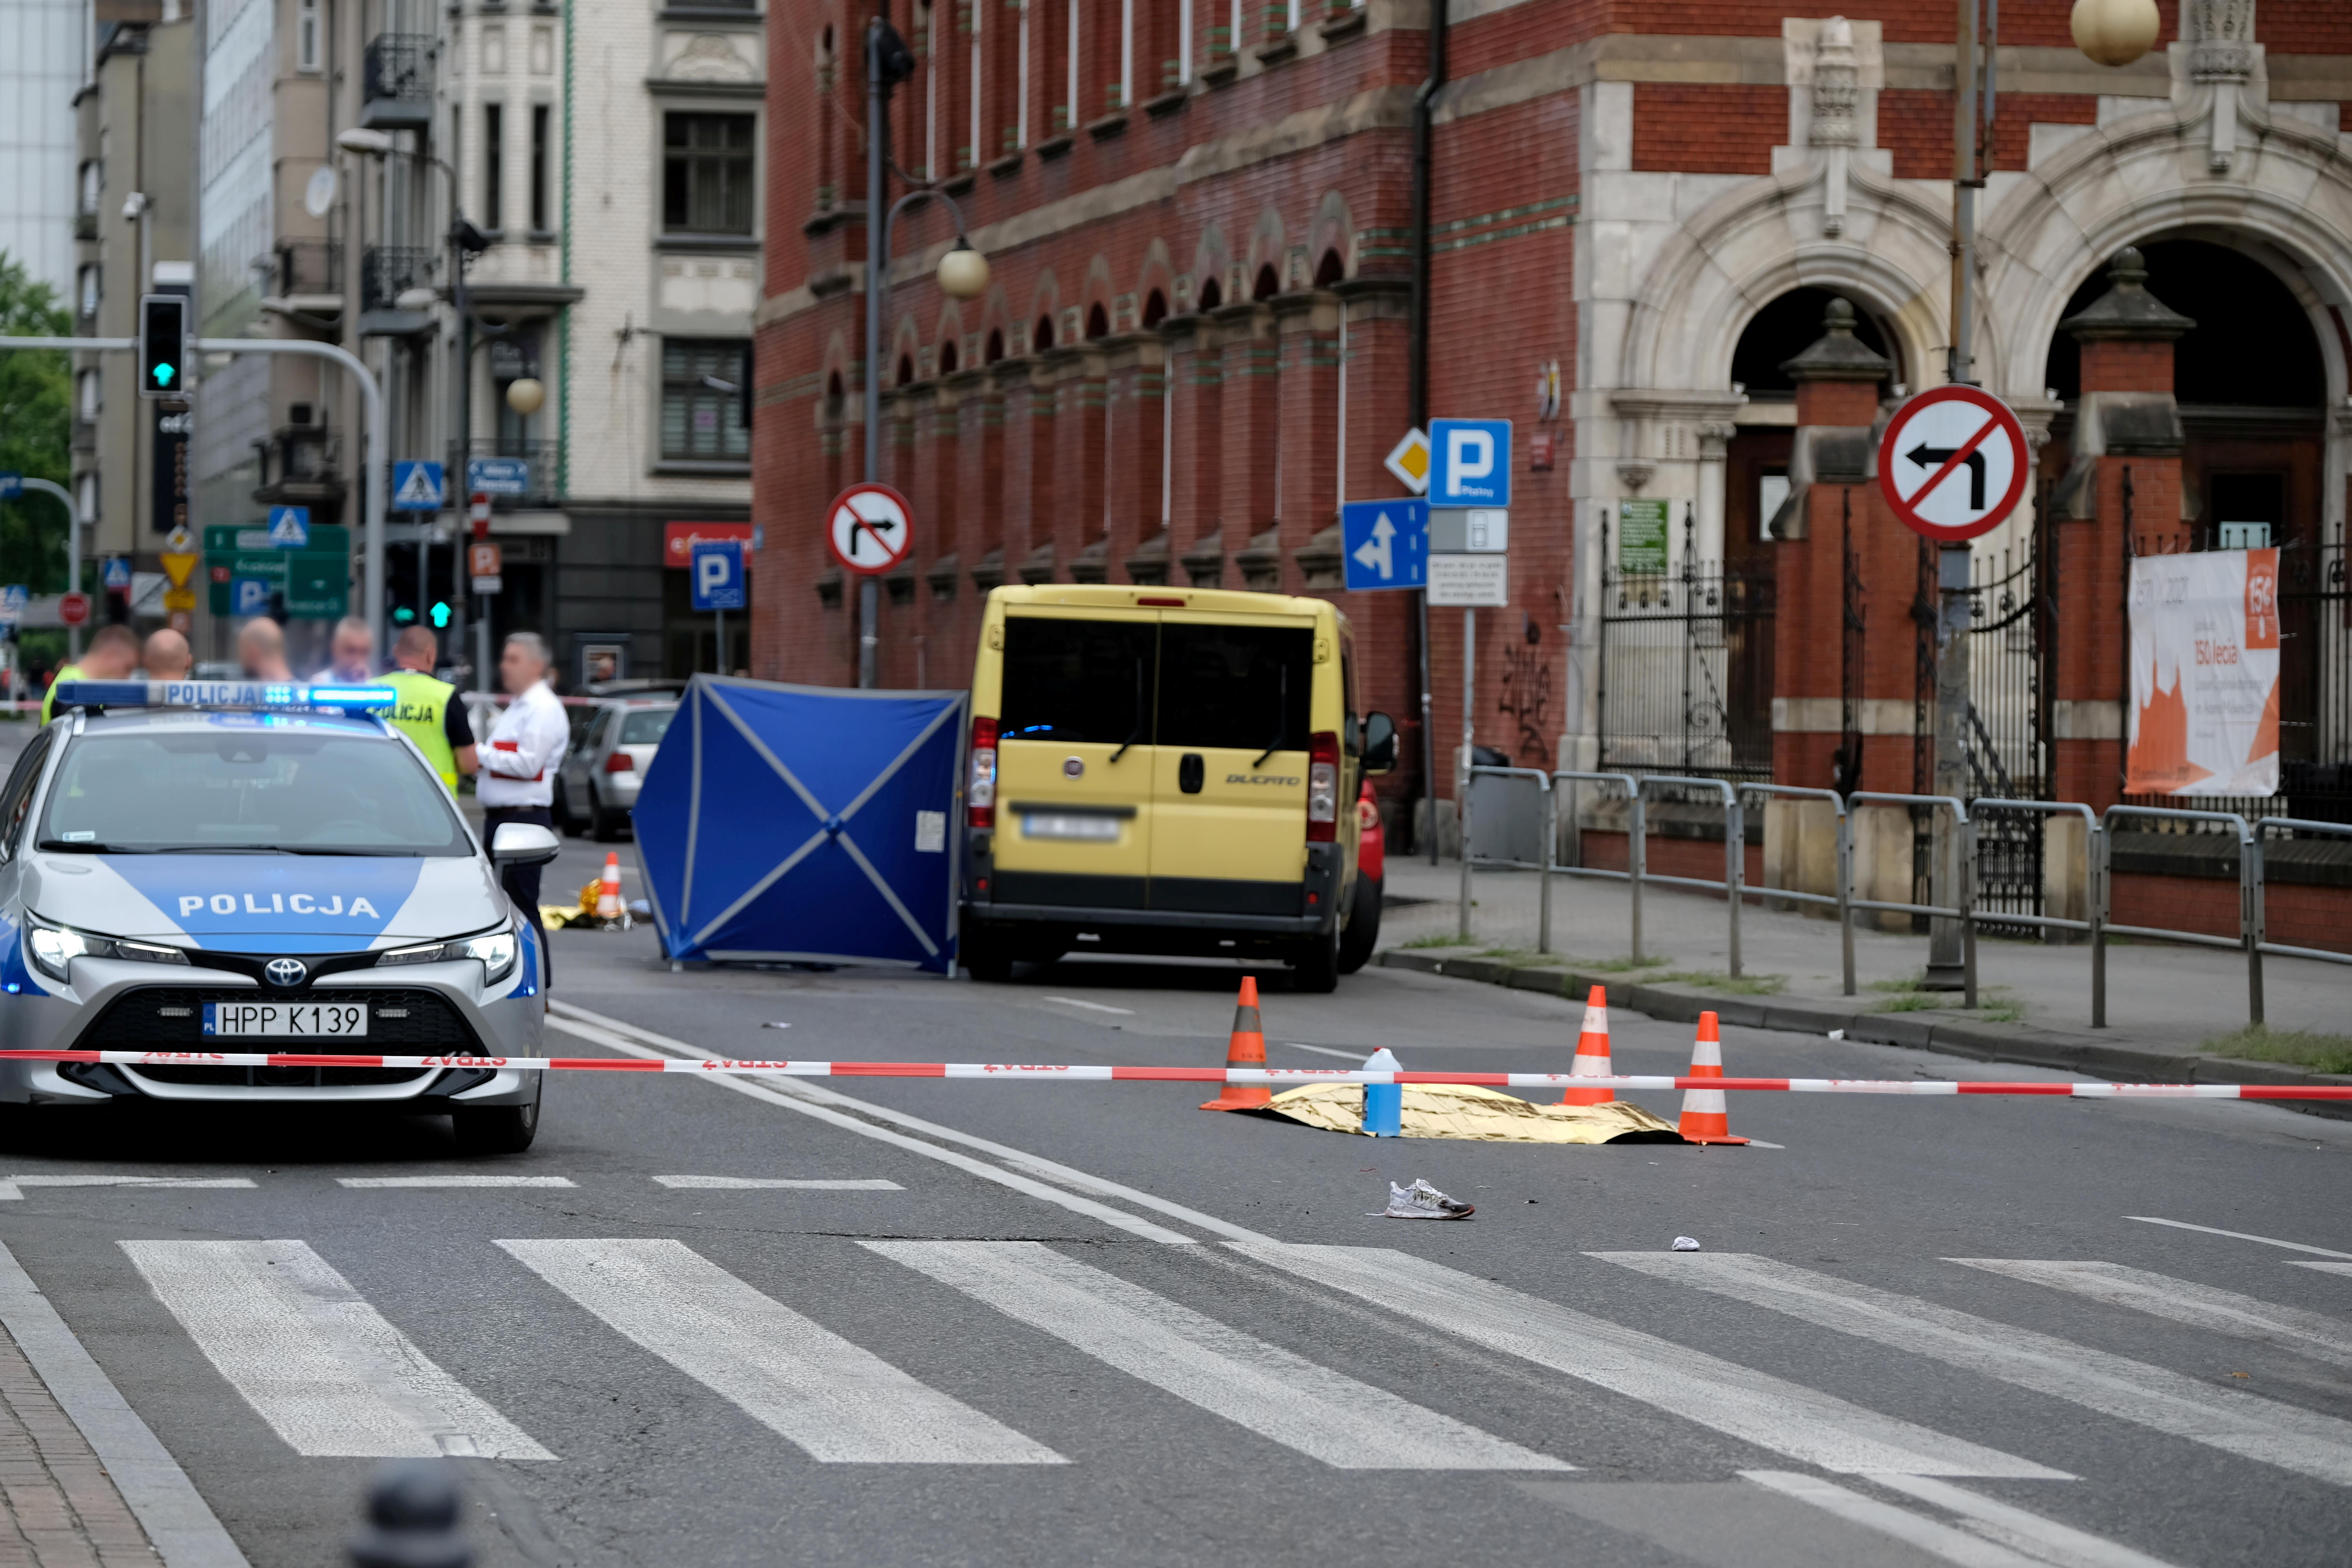
M195 954L202 957L202 954ZM524 961L536 961L527 947ZM539 1056L546 997L522 966L494 985L482 964L348 969L296 992L266 992L249 976L205 964L73 959L71 983L26 976L0 1009L0 1044L12 1051L172 1051L186 1063L0 1060L0 1100L101 1105L106 1100L191 1103L374 1103L435 1112L452 1105L527 1105L539 1086L508 1067L221 1067L205 1053L301 1051L320 1056ZM367 1001L369 1034L341 1041L207 1039L205 1001Z

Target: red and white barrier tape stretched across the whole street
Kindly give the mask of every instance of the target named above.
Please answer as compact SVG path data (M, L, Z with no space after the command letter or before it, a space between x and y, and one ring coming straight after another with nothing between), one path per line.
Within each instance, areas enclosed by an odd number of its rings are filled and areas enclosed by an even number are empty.
M0 1051L7 1063L120 1067L510 1067L522 1072L701 1072L781 1079L1023 1079L1056 1084L1475 1084L1484 1088L1740 1088L1830 1095L2072 1095L2079 1100L2352 1100L2298 1084L1955 1084L1945 1079L1689 1079L1566 1072L1357 1072L1350 1067L1098 1067L1028 1063L635 1060L616 1056L299 1056L263 1051Z

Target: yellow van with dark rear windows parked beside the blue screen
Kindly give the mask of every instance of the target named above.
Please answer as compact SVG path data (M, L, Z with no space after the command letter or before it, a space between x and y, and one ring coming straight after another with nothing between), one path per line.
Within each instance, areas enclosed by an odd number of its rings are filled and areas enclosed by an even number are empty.
M974 978L1070 950L1195 952L1287 959L1303 990L1331 990L1371 957L1355 799L1395 766L1397 726L1357 710L1331 604L997 588L971 715Z

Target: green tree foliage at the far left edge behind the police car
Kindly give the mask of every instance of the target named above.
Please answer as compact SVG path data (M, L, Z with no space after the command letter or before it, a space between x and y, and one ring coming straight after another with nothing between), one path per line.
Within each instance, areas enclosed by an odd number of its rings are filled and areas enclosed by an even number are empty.
M0 336L66 336L56 289L0 252ZM73 367L64 353L0 353L0 470L66 484L73 477ZM0 501L0 583L33 592L66 585L66 508L56 496Z

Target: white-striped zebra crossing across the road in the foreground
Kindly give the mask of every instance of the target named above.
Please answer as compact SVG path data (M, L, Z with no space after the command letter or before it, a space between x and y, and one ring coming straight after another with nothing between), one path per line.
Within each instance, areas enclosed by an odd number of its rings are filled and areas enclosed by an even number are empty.
M677 1239L501 1239L574 1312L581 1345L616 1335L821 1465L1070 1465L1035 1434L931 1387L884 1354L767 1295ZM1571 1472L1472 1420L1319 1366L1134 1279L1042 1241L856 1239L854 1258L920 1276L1108 1368L1331 1469ZM445 1371L310 1244L120 1241L139 1279L235 1394L306 1458L463 1455L550 1462L532 1410L499 1410ZM1185 1248L1190 1253L1190 1248ZM1898 1410L1806 1387L1736 1359L1566 1307L1465 1269L1378 1246L1225 1244L1225 1267L1265 1269L1437 1335L1557 1373L1559 1399L1618 1396L1830 1476L1865 1479L1938 1507L1978 1497L1957 1481L2070 1481L2051 1455L2004 1453ZM1195 1255L1197 1258L1197 1255ZM2133 1427L2183 1436L2281 1472L2352 1486L2352 1422L2216 1387L2056 1335L2016 1328L1738 1253L1592 1253L1686 1291L1764 1307L1900 1354L1962 1366ZM2093 1307L2253 1340L2321 1366L2352 1361L2326 1314L2089 1260L1955 1258L1952 1265L2060 1291ZM1216 1267L1185 1260L1176 1267ZM1211 1284L1214 1293L1214 1284ZM586 1356L593 1366L602 1354ZM1745 1474L1745 1472L1743 1472ZM1785 1472L1757 1472L1785 1474ZM1759 1481L1769 1483L1769 1481ZM1820 1493L1830 1497L1830 1493ZM1828 1507L1828 1502L1823 1502ZM1877 1507L1877 1505L1875 1505Z

